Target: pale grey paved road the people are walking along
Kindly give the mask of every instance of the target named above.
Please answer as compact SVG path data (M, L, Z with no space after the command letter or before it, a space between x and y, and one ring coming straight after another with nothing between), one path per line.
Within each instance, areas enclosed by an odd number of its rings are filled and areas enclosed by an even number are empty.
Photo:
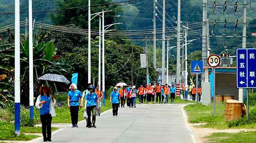
M64 127L52 135L58 143L193 143L192 132L185 125L182 105L137 105L135 109L119 108L119 116L112 111L96 118L96 129ZM40 143L42 139L34 140Z

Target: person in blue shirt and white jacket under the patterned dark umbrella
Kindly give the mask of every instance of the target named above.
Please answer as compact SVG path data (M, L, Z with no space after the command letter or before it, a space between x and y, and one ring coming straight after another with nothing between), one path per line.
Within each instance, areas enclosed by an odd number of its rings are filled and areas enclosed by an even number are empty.
M42 133L44 142L51 140L52 117L55 117L54 105L56 103L54 96L50 95L50 89L47 86L40 87L41 95L38 96L35 106L39 109Z

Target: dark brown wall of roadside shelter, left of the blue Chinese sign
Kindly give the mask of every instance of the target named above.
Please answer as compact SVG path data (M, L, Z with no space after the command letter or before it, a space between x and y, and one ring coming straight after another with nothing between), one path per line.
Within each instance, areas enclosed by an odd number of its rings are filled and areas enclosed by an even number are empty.
M235 95L239 99L239 90L236 88L236 73L216 73L215 95Z

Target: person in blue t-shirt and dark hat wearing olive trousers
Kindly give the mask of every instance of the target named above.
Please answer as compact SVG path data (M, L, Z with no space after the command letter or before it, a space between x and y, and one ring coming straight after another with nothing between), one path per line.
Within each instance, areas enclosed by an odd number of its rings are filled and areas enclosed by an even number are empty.
M90 93L87 93L85 95L85 107L84 107L84 111L87 112L88 118L87 118L87 125L86 127L88 128L96 128L95 126L95 122L96 122L96 108L97 110L99 110L99 98L98 95L95 93L95 87L93 85L90 85L88 87ZM93 116L92 122L90 120L91 117L91 113ZM93 123L93 126L92 126Z

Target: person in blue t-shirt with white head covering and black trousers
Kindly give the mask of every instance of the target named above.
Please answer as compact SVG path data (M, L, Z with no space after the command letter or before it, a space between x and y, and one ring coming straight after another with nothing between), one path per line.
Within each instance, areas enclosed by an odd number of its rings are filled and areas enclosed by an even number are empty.
M79 99L81 99L82 94L79 90L77 90L76 84L70 85L70 91L67 96L67 107L70 108L70 115L72 121L72 127L78 127L78 111L79 111ZM81 101L80 108L83 107L83 103Z

